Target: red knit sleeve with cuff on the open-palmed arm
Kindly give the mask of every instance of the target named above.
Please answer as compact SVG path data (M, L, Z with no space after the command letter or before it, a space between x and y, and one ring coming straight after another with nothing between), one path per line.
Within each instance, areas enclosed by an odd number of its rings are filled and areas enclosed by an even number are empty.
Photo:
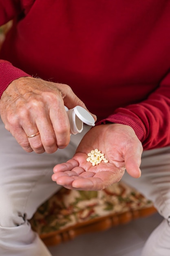
M144 149L170 145L170 73L149 97L137 104L117 108L113 115L100 121L131 126Z

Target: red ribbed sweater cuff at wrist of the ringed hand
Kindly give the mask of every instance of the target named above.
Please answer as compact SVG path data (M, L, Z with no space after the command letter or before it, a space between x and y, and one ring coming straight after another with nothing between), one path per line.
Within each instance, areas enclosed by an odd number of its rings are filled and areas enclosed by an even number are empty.
M23 76L30 76L8 61L0 60L0 97L8 85L15 79Z

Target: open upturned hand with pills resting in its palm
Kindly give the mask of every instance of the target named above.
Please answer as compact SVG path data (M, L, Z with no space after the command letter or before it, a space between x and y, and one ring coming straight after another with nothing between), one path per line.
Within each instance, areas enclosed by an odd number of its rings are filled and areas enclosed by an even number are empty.
M86 161L87 153L95 148L105 154L108 163L92 166ZM54 167L52 180L68 189L101 190L121 180L125 169L132 177L140 177L142 151L130 126L95 126L83 137L73 158Z

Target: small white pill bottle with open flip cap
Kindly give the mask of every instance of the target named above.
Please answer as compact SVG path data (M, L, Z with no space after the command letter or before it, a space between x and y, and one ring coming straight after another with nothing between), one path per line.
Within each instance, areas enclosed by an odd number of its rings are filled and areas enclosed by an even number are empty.
M76 106L72 109L68 109L66 106L64 107L70 121L71 134L75 135L82 132L83 124L95 126L95 119L93 118L93 116L81 106Z

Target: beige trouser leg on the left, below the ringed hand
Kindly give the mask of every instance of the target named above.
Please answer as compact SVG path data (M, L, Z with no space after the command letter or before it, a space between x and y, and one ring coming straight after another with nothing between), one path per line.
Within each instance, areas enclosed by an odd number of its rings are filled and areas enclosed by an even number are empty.
M60 186L53 167L70 159L82 135L71 135L64 150L26 153L0 119L0 256L50 256L28 220Z

